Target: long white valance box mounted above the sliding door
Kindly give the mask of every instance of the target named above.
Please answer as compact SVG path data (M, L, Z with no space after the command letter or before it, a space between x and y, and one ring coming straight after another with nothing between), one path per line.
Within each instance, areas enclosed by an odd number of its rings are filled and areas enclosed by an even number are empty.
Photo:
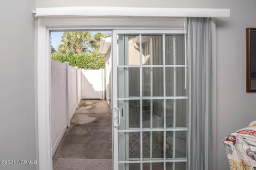
M49 16L149 16L149 17L229 17L230 9L219 8L153 8L76 6L36 8L36 17Z

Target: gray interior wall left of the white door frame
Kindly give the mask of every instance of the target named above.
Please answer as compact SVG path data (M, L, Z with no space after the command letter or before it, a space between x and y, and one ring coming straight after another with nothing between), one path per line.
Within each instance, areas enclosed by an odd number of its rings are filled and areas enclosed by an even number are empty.
M0 1L0 160L36 160L34 6L34 0Z

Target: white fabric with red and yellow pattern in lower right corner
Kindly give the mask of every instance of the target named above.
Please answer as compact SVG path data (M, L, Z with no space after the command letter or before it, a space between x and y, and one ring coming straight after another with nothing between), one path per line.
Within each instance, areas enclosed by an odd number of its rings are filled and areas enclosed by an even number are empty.
M224 139L230 170L256 170L256 121Z

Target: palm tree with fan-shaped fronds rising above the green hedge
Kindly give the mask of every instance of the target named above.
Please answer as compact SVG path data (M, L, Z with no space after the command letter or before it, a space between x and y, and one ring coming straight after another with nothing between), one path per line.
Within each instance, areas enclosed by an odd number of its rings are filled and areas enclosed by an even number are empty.
M79 54L86 52L88 47L86 42L92 38L90 32L63 32L61 42L59 45L59 52L63 54L74 53Z

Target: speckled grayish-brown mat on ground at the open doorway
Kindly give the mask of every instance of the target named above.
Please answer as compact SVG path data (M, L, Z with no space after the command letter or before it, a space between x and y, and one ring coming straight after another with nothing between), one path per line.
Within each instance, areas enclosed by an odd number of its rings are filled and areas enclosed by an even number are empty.
M54 170L112 170L112 159L59 158Z

